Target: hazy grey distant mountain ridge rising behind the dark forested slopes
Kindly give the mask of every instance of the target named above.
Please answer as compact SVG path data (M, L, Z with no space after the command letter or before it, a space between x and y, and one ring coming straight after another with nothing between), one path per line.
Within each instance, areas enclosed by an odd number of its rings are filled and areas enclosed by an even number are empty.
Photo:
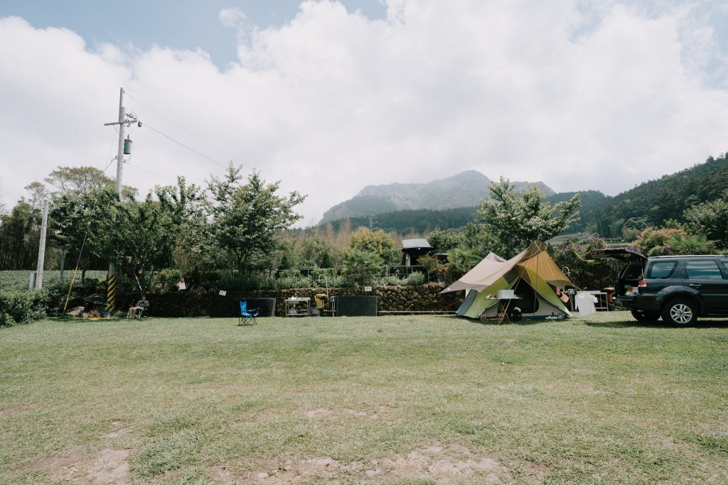
M476 170L427 183L390 183L367 185L356 196L328 209L320 223L347 217L377 215L416 209L454 209L474 207L488 195L491 180ZM536 185L546 196L555 192L542 182L513 182L518 191Z

